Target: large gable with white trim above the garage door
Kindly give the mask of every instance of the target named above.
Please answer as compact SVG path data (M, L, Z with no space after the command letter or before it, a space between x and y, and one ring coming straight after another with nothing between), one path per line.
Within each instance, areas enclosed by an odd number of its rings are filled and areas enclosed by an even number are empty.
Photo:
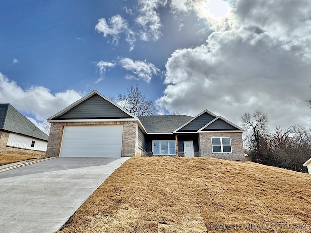
M48 121L68 119L124 119L137 118L112 100L94 90L67 108L51 116Z

